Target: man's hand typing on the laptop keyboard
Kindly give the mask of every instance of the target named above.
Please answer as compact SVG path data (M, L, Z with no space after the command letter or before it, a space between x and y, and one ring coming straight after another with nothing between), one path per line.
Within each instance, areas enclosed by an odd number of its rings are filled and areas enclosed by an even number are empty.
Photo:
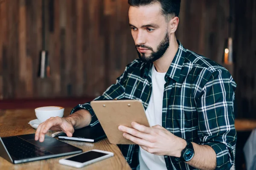
M37 141L39 139L40 142L44 142L44 136L48 130L62 131L69 137L72 137L75 131L70 117L51 117L38 125L35 132L35 140Z

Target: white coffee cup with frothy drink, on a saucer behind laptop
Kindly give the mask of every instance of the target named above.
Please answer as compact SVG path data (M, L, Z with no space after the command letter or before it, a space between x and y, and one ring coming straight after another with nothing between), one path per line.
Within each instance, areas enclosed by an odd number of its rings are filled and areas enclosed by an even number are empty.
M45 106L35 108L35 116L38 118L39 123L42 123L50 117L63 117L64 108L60 106Z

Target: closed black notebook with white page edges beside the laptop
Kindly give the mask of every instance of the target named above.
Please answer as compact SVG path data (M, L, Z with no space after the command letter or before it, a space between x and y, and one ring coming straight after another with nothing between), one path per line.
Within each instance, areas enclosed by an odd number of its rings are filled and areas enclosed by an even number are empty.
M87 126L81 129L76 129L72 137L68 137L66 133L60 133L58 134L58 138L84 142L97 142L106 138L106 134L102 129L102 126L98 123L92 127Z

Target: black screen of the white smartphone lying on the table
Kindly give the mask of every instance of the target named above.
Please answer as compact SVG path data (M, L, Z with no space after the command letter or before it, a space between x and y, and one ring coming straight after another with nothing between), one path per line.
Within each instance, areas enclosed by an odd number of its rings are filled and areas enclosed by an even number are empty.
M90 160L93 160L93 159L96 159L96 158L99 158L99 157L102 157L105 155L108 155L108 154L101 153L101 152L95 152L95 151L89 151L89 152L82 153L80 155L68 158L67 160L84 163L84 162L87 162L87 161L90 161Z

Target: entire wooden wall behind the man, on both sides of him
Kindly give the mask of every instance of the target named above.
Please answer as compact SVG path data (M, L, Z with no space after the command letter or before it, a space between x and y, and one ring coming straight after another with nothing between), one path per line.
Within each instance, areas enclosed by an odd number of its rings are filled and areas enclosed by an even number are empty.
M256 2L230 1L235 13L233 76L243 116L256 111ZM98 96L137 58L127 0L45 0L44 4L51 77L40 79L42 0L0 0L1 99ZM182 0L178 40L221 63L229 12L229 0Z

